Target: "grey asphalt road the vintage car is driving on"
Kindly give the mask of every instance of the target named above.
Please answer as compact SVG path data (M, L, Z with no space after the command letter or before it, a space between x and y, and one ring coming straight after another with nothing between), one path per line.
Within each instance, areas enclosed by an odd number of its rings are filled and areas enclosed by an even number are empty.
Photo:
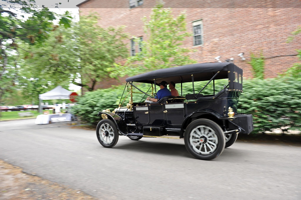
M300 200L301 147L236 141L212 161L182 139L120 136L34 119L0 122L0 159L101 200Z

